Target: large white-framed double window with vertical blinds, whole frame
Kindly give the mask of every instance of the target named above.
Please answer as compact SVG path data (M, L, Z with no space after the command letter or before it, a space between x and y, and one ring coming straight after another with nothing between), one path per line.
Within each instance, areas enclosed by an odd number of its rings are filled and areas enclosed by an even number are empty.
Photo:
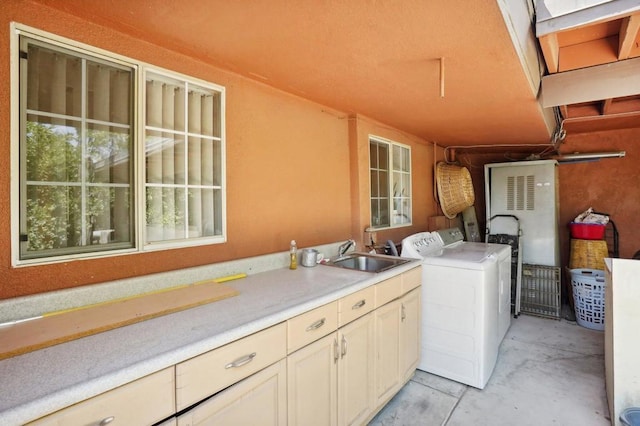
M224 87L13 36L15 265L225 241Z

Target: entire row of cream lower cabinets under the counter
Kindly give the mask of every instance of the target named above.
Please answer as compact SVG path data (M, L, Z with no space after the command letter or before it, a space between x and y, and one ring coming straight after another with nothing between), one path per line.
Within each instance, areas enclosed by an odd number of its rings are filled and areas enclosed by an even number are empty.
M405 272L35 424L366 424L418 364L420 277Z

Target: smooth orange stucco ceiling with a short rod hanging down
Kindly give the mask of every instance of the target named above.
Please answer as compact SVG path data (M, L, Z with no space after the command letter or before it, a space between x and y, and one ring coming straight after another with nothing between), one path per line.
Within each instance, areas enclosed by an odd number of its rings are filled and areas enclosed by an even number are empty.
M34 1L441 146L556 128L529 0Z

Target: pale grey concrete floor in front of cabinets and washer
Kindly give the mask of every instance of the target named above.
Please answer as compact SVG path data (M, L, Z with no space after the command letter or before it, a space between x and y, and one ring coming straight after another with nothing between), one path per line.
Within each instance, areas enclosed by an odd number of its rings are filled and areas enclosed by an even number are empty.
M369 425L610 425L604 333L520 315L483 390L418 370Z

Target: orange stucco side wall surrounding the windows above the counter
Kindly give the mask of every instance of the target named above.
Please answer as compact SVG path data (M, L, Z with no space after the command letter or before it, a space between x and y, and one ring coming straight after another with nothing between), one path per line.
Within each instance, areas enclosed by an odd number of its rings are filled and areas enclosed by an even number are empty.
M12 21L226 87L226 243L46 266L11 266ZM368 176L366 182L355 184L351 179L364 179L358 171L362 168L368 173L368 148L361 150L367 132L413 149L414 225L389 232L385 239L401 239L425 229L435 209L432 169L423 168L433 161L433 147L418 138L35 2L3 4L0 28L0 158L4 159L0 169L0 299L285 251L291 239L302 247L350 237L361 241L369 215Z

